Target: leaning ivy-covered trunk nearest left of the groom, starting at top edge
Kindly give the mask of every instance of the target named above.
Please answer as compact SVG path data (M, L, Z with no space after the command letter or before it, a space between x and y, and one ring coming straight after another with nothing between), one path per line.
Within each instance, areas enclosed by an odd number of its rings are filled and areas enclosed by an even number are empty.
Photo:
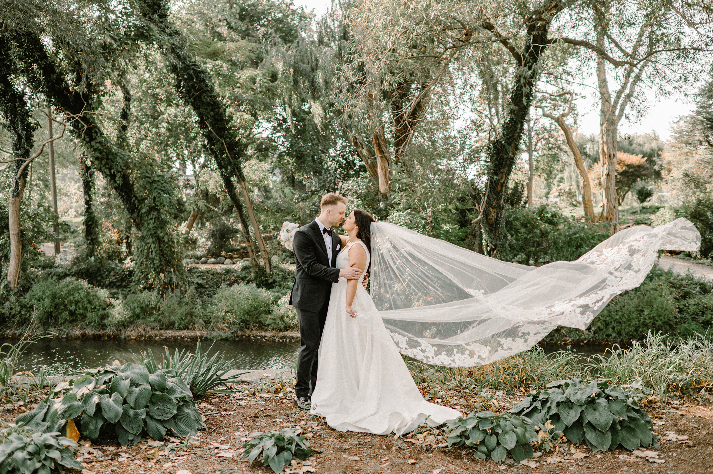
M238 140L230 130L230 118L227 116L226 106L215 91L212 78L188 51L187 39L168 19L170 11L168 3L165 0L140 0L139 9L144 19L153 26L150 28L147 25L144 31L145 41L158 43L176 78L176 90L183 97L185 103L190 105L198 115L200 131L210 154L215 159L227 195L235 206L240 219L240 227L242 227L252 266L256 270L258 269L257 252L253 247L245 211L235 192L232 177L236 177L238 180L255 232L257 247L260 248L265 269L267 272L271 272L270 254L267 252L265 240L262 239L260 225L257 222L252 202L250 202L250 195L247 193L245 175L243 175L240 164L245 154L245 143Z

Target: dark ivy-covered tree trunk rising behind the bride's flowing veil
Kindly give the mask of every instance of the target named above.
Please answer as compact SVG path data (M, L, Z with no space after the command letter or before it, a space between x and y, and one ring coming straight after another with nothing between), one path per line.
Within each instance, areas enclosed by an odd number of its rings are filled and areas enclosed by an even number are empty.
M513 172L515 160L520 153L520 141L523 137L525 120L528 118L533 98L533 87L537 82L537 64L545 48L550 44L548 30L553 16L562 9L558 1L548 5L548 11L535 12L528 16L528 41L523 51L516 51L514 46L501 39L517 61L513 89L506 108L507 115L498 138L488 146L488 187L483 212L483 247L491 257L498 254L501 239L503 210L508 192L508 180ZM484 25L494 31L491 24Z

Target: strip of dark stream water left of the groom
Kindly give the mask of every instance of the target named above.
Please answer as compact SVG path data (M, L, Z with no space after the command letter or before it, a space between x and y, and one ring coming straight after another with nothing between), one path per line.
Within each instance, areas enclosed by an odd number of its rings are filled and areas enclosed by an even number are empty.
M0 344L15 344L17 339L0 339ZM255 341L201 341L203 351L212 345L209 354L225 351L226 359L234 359L238 369L289 369L297 360L299 343L262 343ZM41 339L30 344L24 352L17 371L34 371L40 366L66 364L67 369L78 371L111 364L118 360L121 364L131 361L132 354L151 349L160 358L163 346L181 351L195 351L196 341L135 341L125 339Z

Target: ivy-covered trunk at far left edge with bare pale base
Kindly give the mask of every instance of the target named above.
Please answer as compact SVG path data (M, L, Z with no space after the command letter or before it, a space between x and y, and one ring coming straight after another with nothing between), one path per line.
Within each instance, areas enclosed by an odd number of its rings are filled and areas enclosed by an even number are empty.
M0 57L10 57L10 45L5 34L0 34ZM15 291L22 265L20 206L27 170L25 169L19 176L18 173L25 160L30 158L34 143L34 131L39 127L39 124L32 120L31 110L24 96L10 82L11 74L10 61L6 59L0 61L0 113L8 126L12 140L13 159L16 160L12 167L12 182L8 200L10 261L7 272L10 289Z

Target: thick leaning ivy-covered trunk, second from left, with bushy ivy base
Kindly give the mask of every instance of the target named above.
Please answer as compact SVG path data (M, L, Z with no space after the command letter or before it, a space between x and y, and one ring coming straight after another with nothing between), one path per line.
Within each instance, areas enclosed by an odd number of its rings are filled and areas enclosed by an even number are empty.
M103 133L92 113L93 97L82 96L65 81L63 73L49 57L44 43L30 32L14 34L13 54L19 73L32 88L46 95L51 105L81 120L71 122L71 132L86 147L93 168L101 172L118 195L133 225L140 231L135 242L134 279L138 287L173 291L183 279L183 264L172 216L165 212L176 204L170 177L161 174L153 163L131 159ZM76 71L80 76L80 71ZM91 90L91 85L88 87Z

